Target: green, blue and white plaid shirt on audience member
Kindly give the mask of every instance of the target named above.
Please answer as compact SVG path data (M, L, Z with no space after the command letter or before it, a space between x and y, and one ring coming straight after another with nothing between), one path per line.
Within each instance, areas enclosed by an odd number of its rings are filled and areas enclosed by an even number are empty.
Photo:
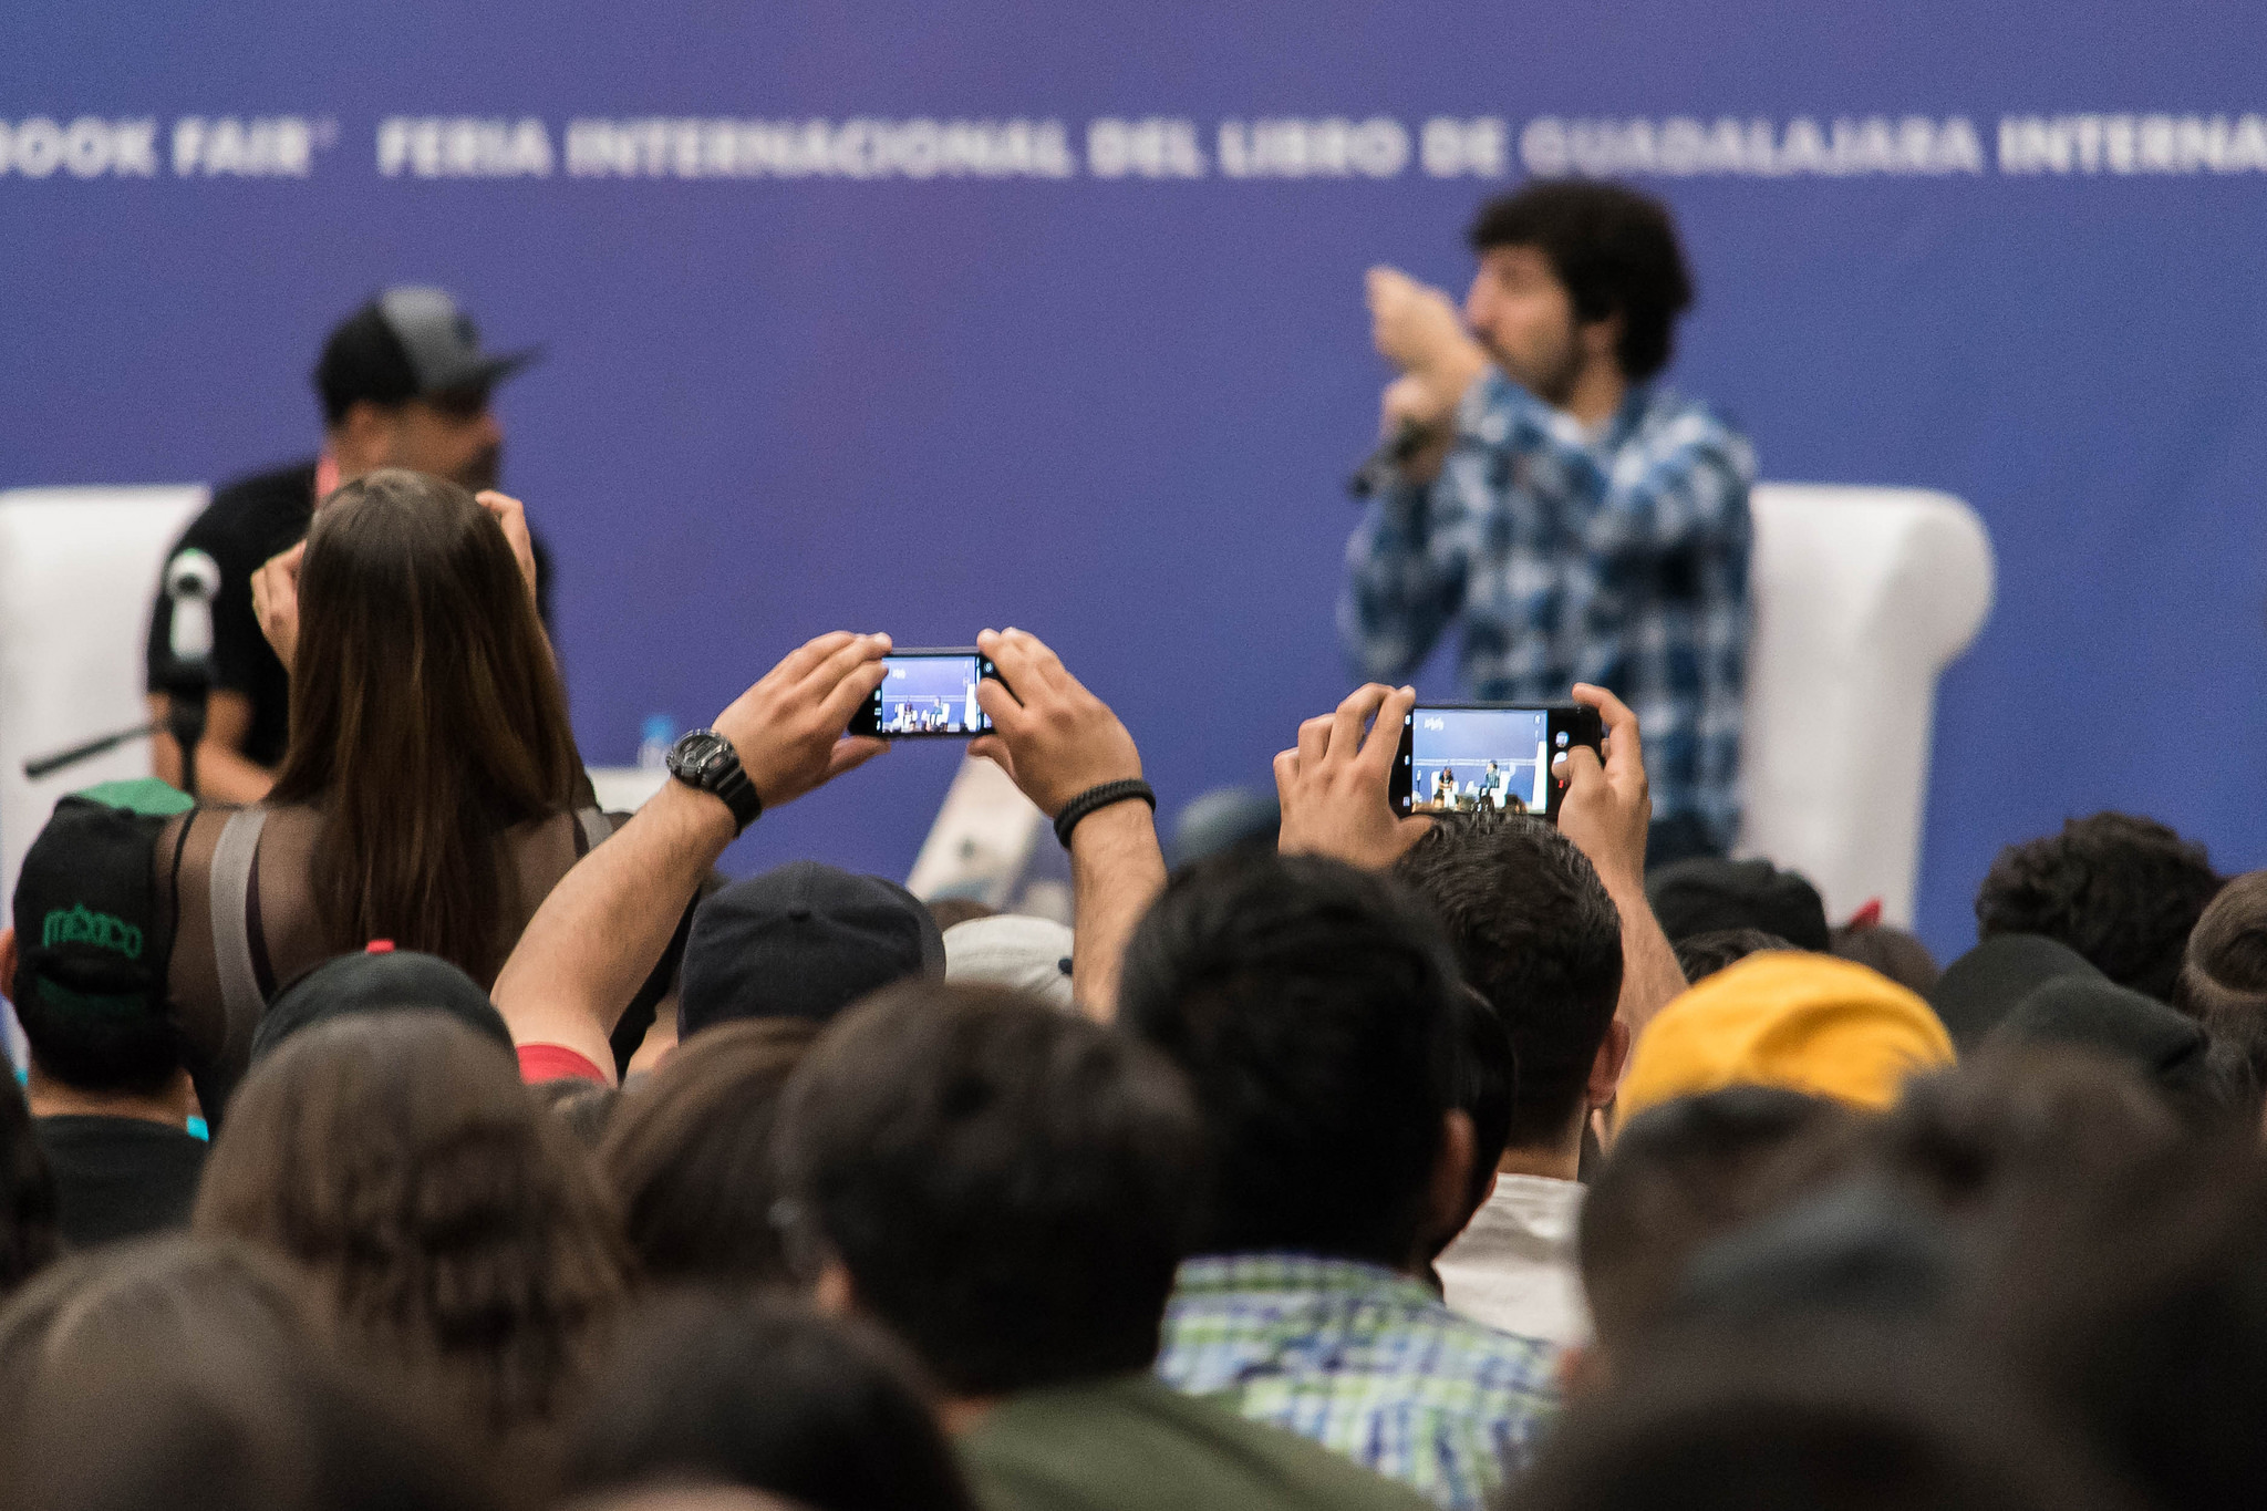
M1188 1260L1158 1375L1428 1495L1480 1511L1557 1409L1557 1350L1467 1321L1376 1264Z

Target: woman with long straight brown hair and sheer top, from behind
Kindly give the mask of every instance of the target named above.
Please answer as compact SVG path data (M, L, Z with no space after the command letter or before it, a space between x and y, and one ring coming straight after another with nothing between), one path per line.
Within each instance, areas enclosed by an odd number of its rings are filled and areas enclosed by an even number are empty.
M528 917L605 834L535 614L519 505L385 469L347 483L254 582L292 673L265 802L159 843L170 985L211 1090L243 1074L277 990L392 940L490 985Z

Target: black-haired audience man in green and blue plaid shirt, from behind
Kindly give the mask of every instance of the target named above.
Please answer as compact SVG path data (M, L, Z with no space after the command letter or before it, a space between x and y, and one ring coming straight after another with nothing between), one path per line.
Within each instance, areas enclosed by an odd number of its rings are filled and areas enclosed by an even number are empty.
M1165 883L1118 1022L1188 1072L1213 1146L1156 1373L1485 1511L1557 1414L1557 1348L1419 1280L1494 1162L1455 1105L1460 990L1410 893L1258 854Z

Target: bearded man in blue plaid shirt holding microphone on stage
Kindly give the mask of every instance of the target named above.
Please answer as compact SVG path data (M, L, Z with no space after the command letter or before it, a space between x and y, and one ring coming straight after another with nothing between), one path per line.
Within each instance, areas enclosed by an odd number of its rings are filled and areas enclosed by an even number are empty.
M1650 861L1739 829L1748 661L1746 437L1653 383L1691 279L1669 213L1610 183L1537 183L1480 211L1464 319L1378 267L1396 460L1365 473L1340 634L1396 682L1464 632L1471 698L1607 686L1646 732ZM1469 333L1467 326L1469 324Z

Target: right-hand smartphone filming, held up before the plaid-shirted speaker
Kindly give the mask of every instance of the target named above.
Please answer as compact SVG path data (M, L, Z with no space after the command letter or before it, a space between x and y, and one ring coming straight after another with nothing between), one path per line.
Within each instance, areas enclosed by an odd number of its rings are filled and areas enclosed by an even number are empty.
M1598 709L1580 702L1433 702L1401 723L1394 813L1496 809L1557 822L1551 761L1576 745L1605 750Z

